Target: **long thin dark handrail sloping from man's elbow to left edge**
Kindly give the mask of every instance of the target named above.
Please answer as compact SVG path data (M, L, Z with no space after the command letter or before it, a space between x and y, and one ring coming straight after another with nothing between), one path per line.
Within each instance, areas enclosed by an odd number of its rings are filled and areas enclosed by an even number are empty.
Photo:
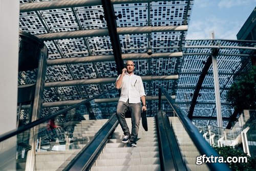
M59 110L59 111L55 112L52 115L46 116L44 118L39 118L39 119L37 119L37 120L35 120L35 121L31 122L31 123L28 123L26 125L17 127L14 130L11 130L11 131L9 131L7 133L4 133L4 134L0 135L0 142L4 141L4 140L6 140L6 139L8 139L8 138L10 138L12 136L18 135L19 133L27 131L27 130L31 129L32 127L36 126L36 125L39 125L39 124L41 124L43 122L46 122L46 121L48 121L48 120L50 120L52 118L55 118L56 116L61 115L62 113L65 113L65 112L67 112L67 111L69 111L71 109L74 109L74 108L76 108L76 107L78 107L78 106L80 106L80 105L82 105L84 103L88 103L89 101L94 100L95 98L100 97L100 96L102 96L102 95L104 95L106 93L109 93L109 92L113 91L113 90L116 90L116 88L113 88L113 89L105 91L105 92L103 92L101 94L95 95L92 98L83 100L83 101L81 101L79 103L70 105L70 106L68 106L65 109L62 109L62 110Z

